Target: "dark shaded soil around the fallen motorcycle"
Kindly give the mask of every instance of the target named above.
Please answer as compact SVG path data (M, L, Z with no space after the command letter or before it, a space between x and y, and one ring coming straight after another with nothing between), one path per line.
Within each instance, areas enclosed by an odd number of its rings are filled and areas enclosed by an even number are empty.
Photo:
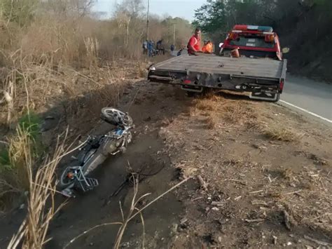
M55 144L55 135L63 133L69 126L69 138L74 140L78 134L104 133L111 127L99 121L99 111L108 103L116 100L105 93L111 89L102 89L88 93L76 100L64 100L43 115L43 140L47 147ZM103 97L103 99L101 99ZM172 186L174 169L170 166L169 155L158 132L162 126L172 122L172 119L188 112L191 99L178 88L160 86L158 84L138 81L130 83L124 89L124 95L118 102L118 108L129 112L136 128L133 143L125 154L109 158L104 165L97 168L94 177L99 180L99 186L85 194L69 200L60 210L50 225L48 236L53 239L46 248L63 248L72 238L83 231L105 222L120 222L119 202L125 213L130 206L132 186L125 184L116 196L113 194L125 182L127 167L140 174L139 194L151 193L141 205L151 201ZM65 163L62 163L63 167ZM65 199L57 196L57 203ZM181 202L173 194L168 194L144 211L145 231L150 246L166 247L167 236L170 236L172 222L178 221L182 212ZM25 216L25 210L15 209L0 220L0 247L5 247L12 234L18 229ZM155 224L158 224L156 231ZM118 226L107 226L91 231L78 239L69 248L109 248L113 245L118 232ZM137 241L140 243L142 224L140 217L133 220L128 227L123 242ZM134 246L134 245L133 245Z

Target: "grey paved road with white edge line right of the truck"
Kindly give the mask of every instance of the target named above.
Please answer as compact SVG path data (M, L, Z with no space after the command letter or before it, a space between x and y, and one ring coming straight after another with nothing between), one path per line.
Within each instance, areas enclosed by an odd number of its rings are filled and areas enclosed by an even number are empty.
M282 105L294 109L300 107L332 123L332 84L287 74L281 100L283 100L280 102ZM302 110L302 112L305 111Z

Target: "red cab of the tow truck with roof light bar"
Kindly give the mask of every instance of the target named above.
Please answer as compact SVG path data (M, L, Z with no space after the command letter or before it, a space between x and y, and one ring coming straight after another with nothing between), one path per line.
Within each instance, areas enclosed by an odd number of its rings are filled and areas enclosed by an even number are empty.
M236 48L240 56L282 60L279 37L272 27L235 25L222 43L219 55L229 56Z

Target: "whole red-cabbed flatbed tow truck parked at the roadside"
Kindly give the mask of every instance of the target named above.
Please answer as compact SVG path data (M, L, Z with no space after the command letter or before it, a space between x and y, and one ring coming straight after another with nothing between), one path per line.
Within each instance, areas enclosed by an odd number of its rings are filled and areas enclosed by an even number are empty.
M235 25L221 43L219 55L198 53L165 60L149 68L148 80L179 85L191 94L214 88L277 102L286 68L287 60L282 60L279 38L272 27Z

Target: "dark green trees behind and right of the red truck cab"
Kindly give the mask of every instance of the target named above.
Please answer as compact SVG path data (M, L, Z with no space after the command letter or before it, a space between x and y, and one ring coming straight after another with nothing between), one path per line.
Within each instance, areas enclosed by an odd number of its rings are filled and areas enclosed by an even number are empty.
M282 46L291 48L291 69L331 79L331 13L331 0L207 0L193 25L216 42L235 24L272 26Z

